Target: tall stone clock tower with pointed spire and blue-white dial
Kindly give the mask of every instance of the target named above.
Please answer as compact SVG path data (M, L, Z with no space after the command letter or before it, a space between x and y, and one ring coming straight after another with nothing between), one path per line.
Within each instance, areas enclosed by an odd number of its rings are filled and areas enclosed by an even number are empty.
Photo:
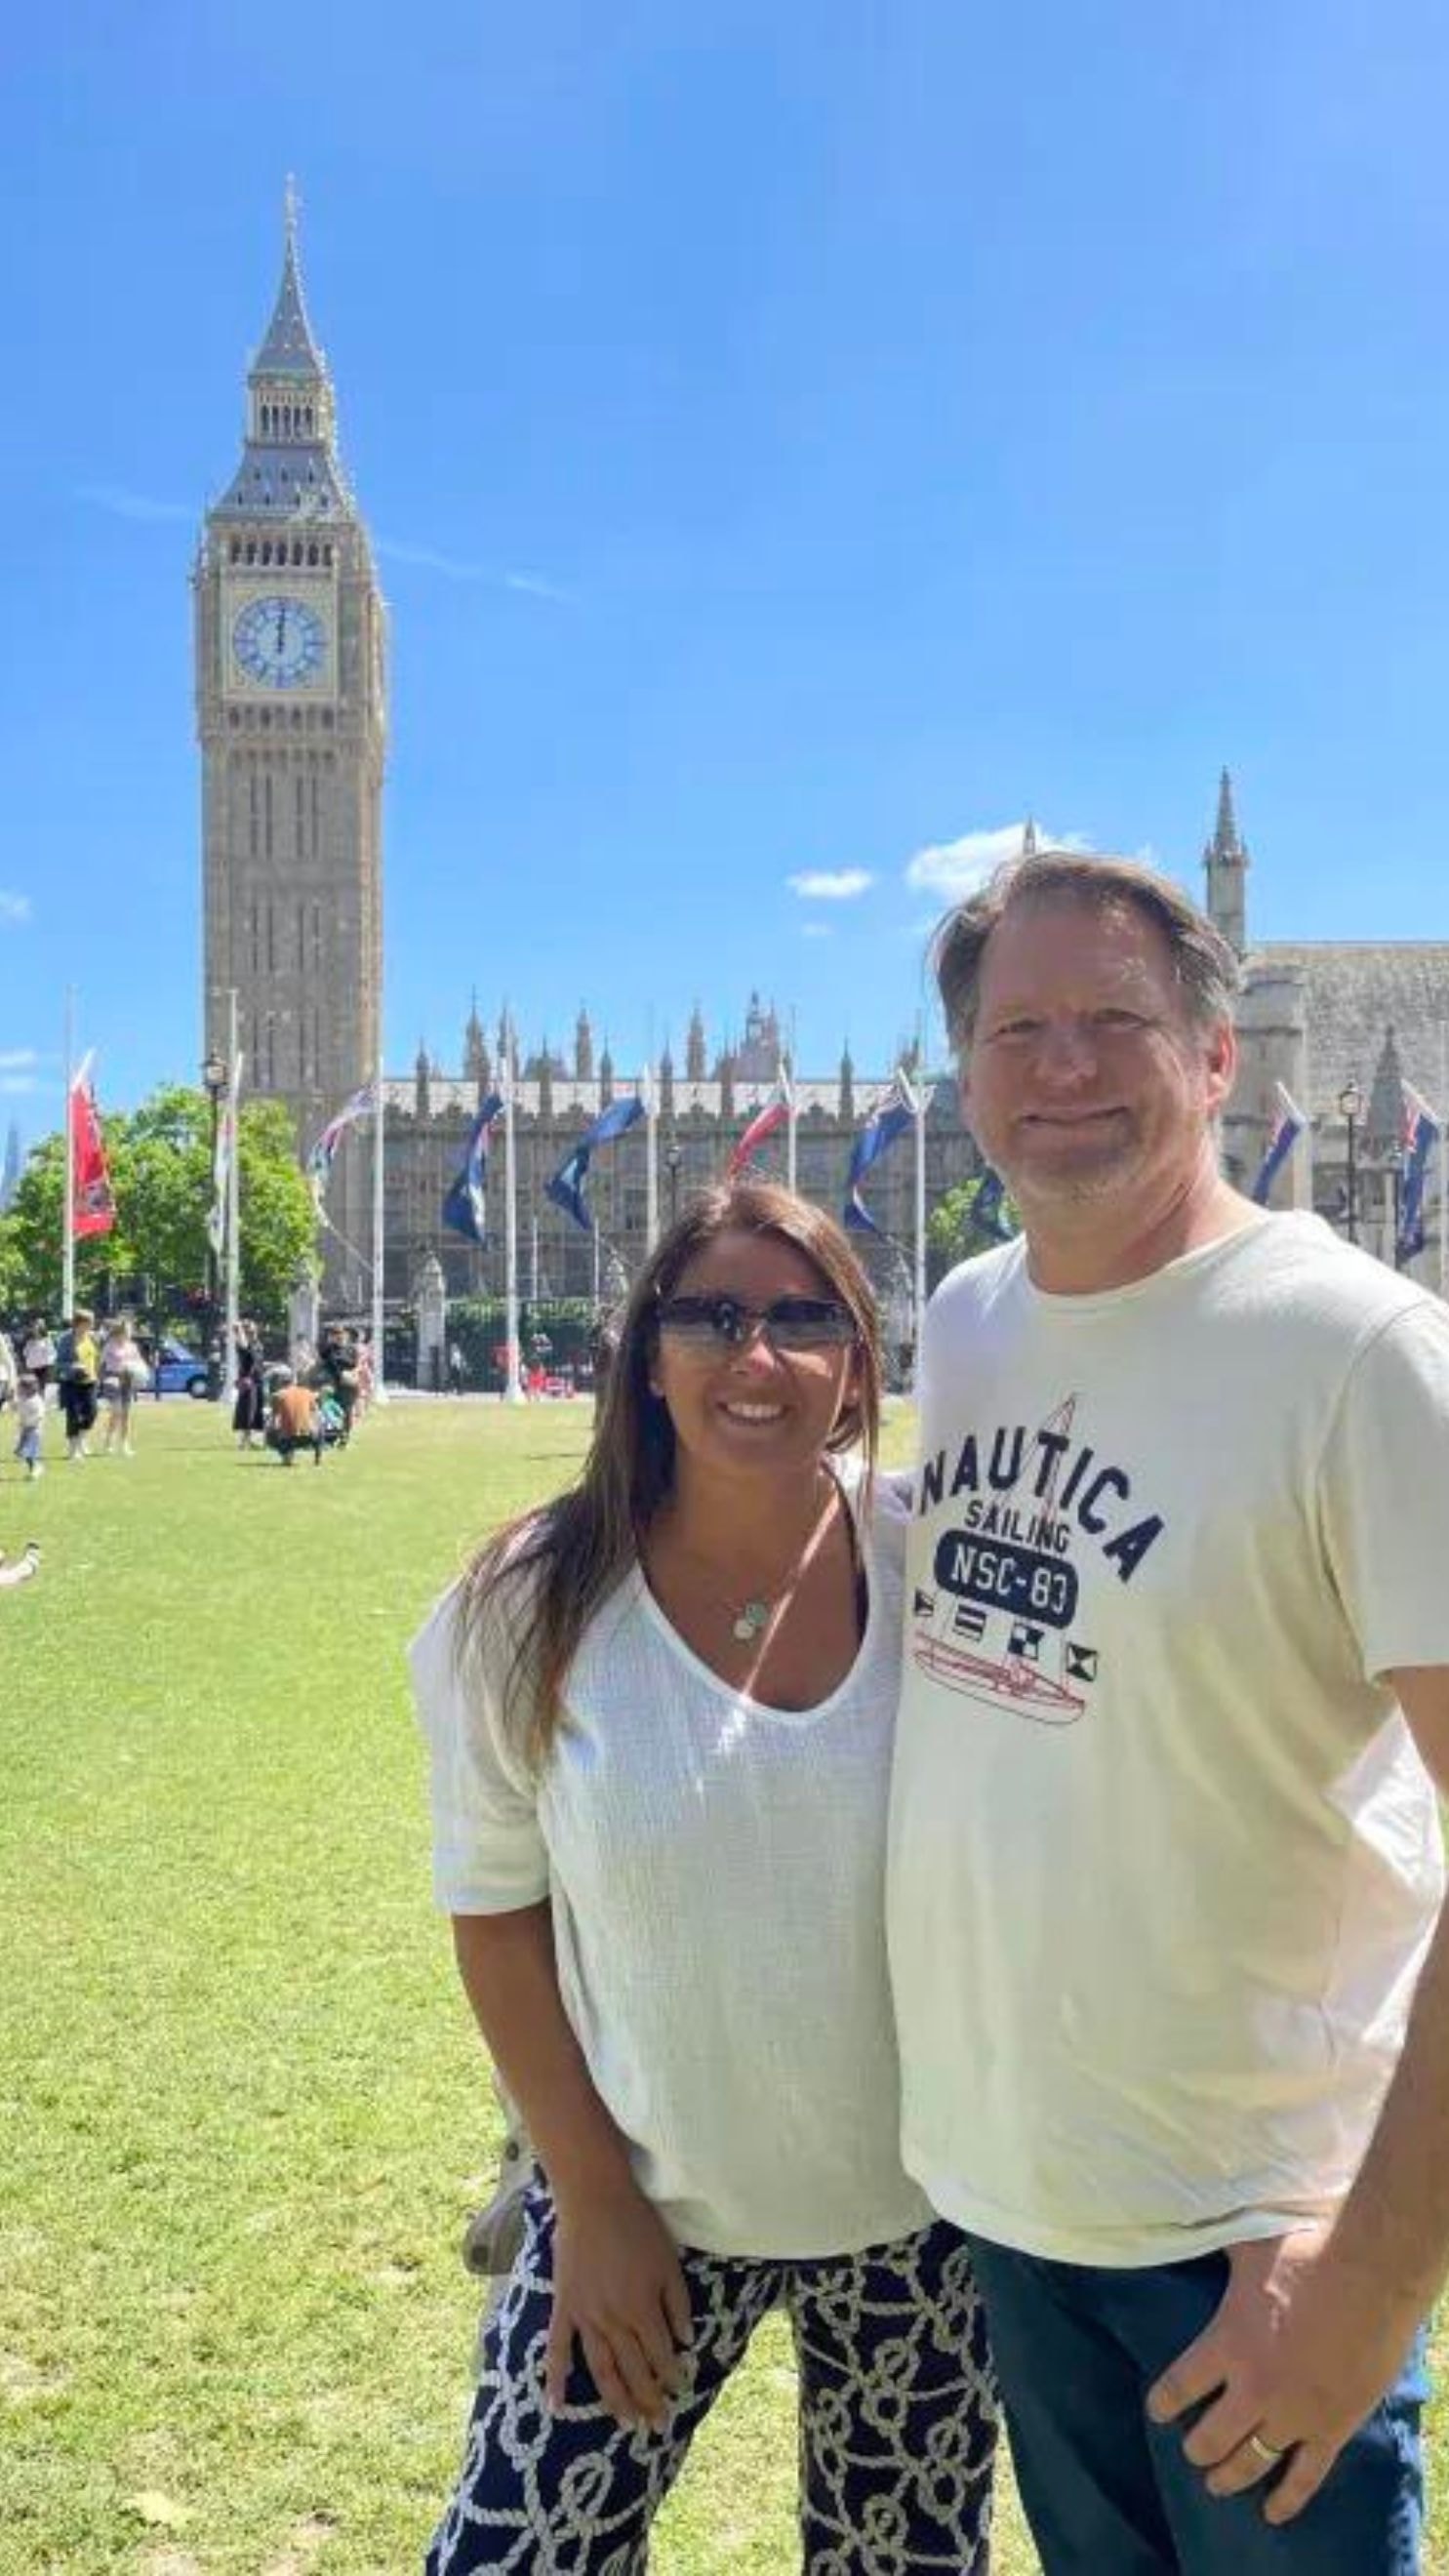
M235 989L245 1087L291 1108L304 1151L376 1072L387 670L371 546L302 299L291 185L242 461L206 513L193 587L206 1048L227 1051ZM358 1162L356 1149L338 1162L330 1193L351 1242Z

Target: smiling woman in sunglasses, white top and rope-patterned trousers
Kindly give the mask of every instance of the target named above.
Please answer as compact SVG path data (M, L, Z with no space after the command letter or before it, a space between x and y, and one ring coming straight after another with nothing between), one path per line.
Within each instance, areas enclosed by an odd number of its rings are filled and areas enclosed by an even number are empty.
M841 1229L712 1190L632 1291L580 1484L415 1641L436 1893L539 2156L431 2576L634 2576L773 2306L804 2566L987 2566L985 2329L897 2156L877 1417Z

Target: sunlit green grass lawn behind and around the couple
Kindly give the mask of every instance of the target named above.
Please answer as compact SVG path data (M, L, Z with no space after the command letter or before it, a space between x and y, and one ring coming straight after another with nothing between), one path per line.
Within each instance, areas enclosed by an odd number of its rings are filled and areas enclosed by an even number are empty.
M3 2576L418 2566L495 2115L402 1643L583 1432L397 1404L284 1473L178 1399L134 1461L70 1468L52 1430L26 1489L5 1450L0 1546L41 1538L44 1574L0 1595ZM792 2442L768 2326L663 2576L797 2566ZM1008 2499L1000 2576L1034 2566Z

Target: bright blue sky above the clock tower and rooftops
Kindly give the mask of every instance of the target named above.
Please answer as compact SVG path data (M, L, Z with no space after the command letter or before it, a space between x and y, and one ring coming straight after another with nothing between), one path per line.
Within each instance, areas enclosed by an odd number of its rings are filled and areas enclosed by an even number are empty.
M1444 935L1428 0L209 0L5 82L0 1123L199 1051L188 564L284 175L392 608L387 1054L750 987L884 1066L1031 809ZM812 878L864 886L799 891Z

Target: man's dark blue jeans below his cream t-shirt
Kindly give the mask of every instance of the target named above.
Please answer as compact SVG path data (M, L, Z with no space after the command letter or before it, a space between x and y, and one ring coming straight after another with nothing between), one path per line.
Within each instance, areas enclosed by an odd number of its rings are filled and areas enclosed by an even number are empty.
M1214 2316L1227 2254L1106 2272L972 2239L972 2259L1044 2576L1415 2576L1421 2352L1279 2527L1261 2488L1212 2496L1183 2427L1145 2414L1152 2380Z

